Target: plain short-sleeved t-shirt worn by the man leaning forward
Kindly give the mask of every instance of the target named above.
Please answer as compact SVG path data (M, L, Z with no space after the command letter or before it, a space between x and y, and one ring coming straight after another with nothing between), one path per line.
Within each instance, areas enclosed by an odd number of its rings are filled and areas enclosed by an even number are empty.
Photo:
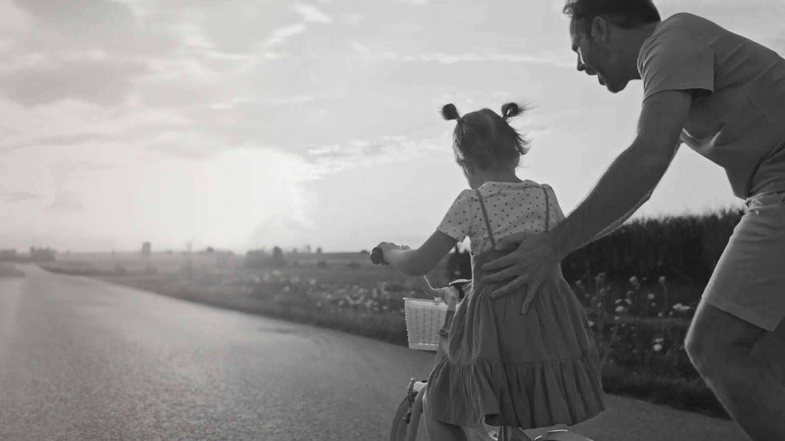
M690 13L670 16L637 60L644 100L695 89L681 141L725 168L733 193L785 190L785 60Z

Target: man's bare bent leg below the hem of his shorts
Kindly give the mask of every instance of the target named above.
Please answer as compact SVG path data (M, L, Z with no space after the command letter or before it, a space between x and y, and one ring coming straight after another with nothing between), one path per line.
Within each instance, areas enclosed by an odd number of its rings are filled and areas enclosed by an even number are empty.
M754 441L785 439L785 386L753 358L766 331L703 299L685 348L703 380Z

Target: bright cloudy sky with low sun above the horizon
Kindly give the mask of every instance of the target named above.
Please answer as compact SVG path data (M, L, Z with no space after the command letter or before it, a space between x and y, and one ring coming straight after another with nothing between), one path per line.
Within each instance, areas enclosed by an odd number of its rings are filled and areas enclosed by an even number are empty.
M785 54L783 2L655 4ZM633 140L642 88L575 70L562 5L0 0L0 248L419 246L468 188L447 103L534 104L518 176L568 213ZM683 146L636 217L734 206Z

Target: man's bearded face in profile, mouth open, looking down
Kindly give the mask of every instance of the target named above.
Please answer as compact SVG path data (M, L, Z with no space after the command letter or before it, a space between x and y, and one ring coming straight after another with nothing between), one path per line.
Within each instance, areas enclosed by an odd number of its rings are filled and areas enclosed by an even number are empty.
M619 75L619 62L612 51L611 39L597 42L590 35L590 27L591 24L581 27L575 20L570 20L572 50L578 56L576 67L579 71L586 72L586 75L597 75L597 81L610 92L620 92L630 80Z

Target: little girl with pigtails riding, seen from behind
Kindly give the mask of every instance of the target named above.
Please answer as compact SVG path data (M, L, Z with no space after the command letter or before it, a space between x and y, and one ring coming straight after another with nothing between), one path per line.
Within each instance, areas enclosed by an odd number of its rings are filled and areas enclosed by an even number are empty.
M600 362L589 320L557 267L540 286L527 315L524 293L491 300L498 285L482 284L480 267L499 257L496 239L528 231L544 234L564 219L546 184L520 180L515 169L530 142L507 123L524 108L502 106L460 116L455 159L469 187L418 249L382 242L385 261L407 275L424 275L467 236L475 283L455 312L445 355L428 378L425 427L435 441L466 439L461 427L539 428L575 425L604 410Z

